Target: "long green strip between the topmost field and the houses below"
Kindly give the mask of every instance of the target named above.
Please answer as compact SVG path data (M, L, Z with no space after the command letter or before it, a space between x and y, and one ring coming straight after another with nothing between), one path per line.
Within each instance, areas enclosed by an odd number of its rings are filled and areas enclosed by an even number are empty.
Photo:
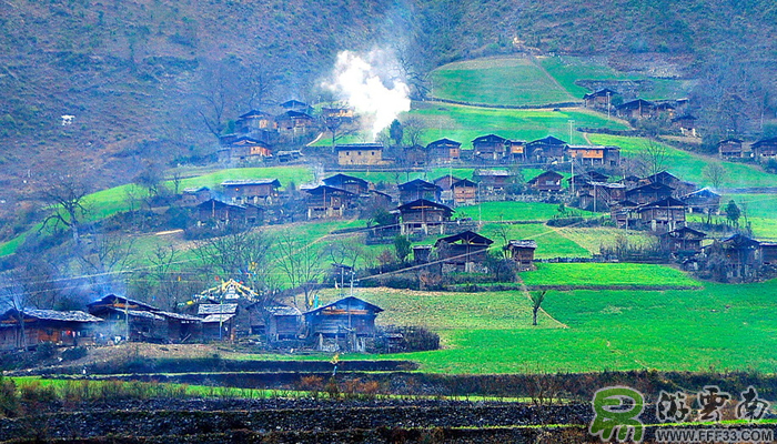
M555 135L569 139L569 121L575 127L628 129L624 123L607 120L603 114L582 109L552 110L501 110L465 107L451 103L414 102L410 115L417 117L425 125L424 144L447 138L462 142L470 149L472 140L488 133L503 138L531 141ZM573 132L573 144L586 144L579 132Z

